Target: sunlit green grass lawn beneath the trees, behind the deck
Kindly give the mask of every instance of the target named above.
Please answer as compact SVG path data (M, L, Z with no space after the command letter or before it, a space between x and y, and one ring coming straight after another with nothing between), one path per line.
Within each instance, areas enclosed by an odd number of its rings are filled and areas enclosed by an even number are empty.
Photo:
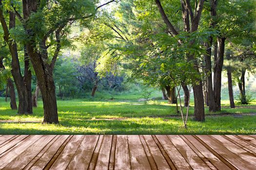
M256 102L231 109L228 101L223 101L219 116L205 108L207 116L202 123L192 120L192 105L186 130L176 113L176 105L166 101L145 105L137 102L133 95L115 99L58 101L60 124L49 125L40 123L43 120L41 101L33 115L18 116L17 111L9 108L9 102L0 98L0 121L19 121L0 122L0 134L256 134L256 116L221 116L223 113L256 113Z

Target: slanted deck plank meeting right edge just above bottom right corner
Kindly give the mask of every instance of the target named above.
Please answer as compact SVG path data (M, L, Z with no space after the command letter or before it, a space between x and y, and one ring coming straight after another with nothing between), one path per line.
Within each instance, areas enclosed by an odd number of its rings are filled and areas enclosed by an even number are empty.
M212 135L211 137L214 138L218 143L223 145L225 148L227 148L231 152L233 152L236 155L238 155L243 160L245 160L248 163L252 164L252 166L256 165L256 156L254 156L251 153L248 153L247 151L245 151L244 149L238 147L237 145L235 145L231 141L227 140L223 136ZM255 166L255 168L256 168L256 166Z

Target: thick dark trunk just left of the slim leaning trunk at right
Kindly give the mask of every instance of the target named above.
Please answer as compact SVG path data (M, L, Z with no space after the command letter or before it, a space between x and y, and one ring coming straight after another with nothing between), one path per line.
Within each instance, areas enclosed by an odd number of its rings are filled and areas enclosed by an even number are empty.
M216 104L216 110L221 110L221 72L224 61L224 50L225 50L225 38L217 38L217 57L215 57L214 63L214 98Z

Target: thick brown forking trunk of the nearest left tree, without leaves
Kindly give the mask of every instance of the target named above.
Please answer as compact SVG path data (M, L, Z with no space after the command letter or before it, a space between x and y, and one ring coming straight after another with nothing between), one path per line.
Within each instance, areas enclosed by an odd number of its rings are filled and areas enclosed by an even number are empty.
M39 7L38 0L22 0L23 6L23 17L24 20L29 20L31 13L36 12ZM59 123L58 120L58 109L56 100L55 84L53 80L53 68L60 50L60 39L59 32L56 32L57 47L52 58L52 62L49 64L45 62L48 58L46 39L40 39L41 41L39 50L37 49L37 42L34 41L33 37L36 36L29 28L27 23L24 24L26 34L30 36L29 41L26 43L26 50L33 68L36 73L40 92L43 101L43 111L45 123Z

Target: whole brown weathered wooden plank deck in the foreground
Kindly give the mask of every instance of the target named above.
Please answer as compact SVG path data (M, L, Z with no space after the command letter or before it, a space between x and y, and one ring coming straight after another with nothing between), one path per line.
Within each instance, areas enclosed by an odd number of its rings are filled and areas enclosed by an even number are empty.
M3 170L256 170L256 136L0 135Z

